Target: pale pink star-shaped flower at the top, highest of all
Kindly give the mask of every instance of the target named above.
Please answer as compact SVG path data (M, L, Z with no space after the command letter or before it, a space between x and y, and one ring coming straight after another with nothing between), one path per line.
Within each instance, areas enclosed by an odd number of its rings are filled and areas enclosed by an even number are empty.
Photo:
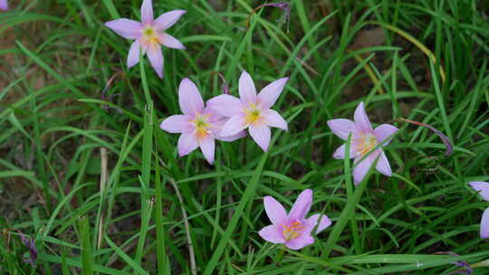
M105 25L120 36L135 40L130 46L128 54L128 68L139 62L139 49L143 55L148 54L149 62L159 78L163 77L163 53L161 45L174 49L185 49L175 37L165 31L175 24L180 16L187 13L184 10L175 10L161 14L153 19L152 0L144 0L141 5L141 22L122 18L107 22Z

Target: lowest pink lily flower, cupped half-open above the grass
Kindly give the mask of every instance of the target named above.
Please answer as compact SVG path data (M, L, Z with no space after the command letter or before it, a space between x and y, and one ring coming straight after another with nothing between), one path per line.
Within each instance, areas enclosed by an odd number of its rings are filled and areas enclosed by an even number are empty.
M292 205L291 211L287 214L283 205L273 197L264 197L264 209L272 222L272 225L265 226L258 234L267 242L284 243L292 250L300 250L314 242L312 230L316 225L316 234L328 228L331 220L324 214L313 214L305 218L312 205L312 190L306 189L297 197ZM320 221L321 219L321 221Z

